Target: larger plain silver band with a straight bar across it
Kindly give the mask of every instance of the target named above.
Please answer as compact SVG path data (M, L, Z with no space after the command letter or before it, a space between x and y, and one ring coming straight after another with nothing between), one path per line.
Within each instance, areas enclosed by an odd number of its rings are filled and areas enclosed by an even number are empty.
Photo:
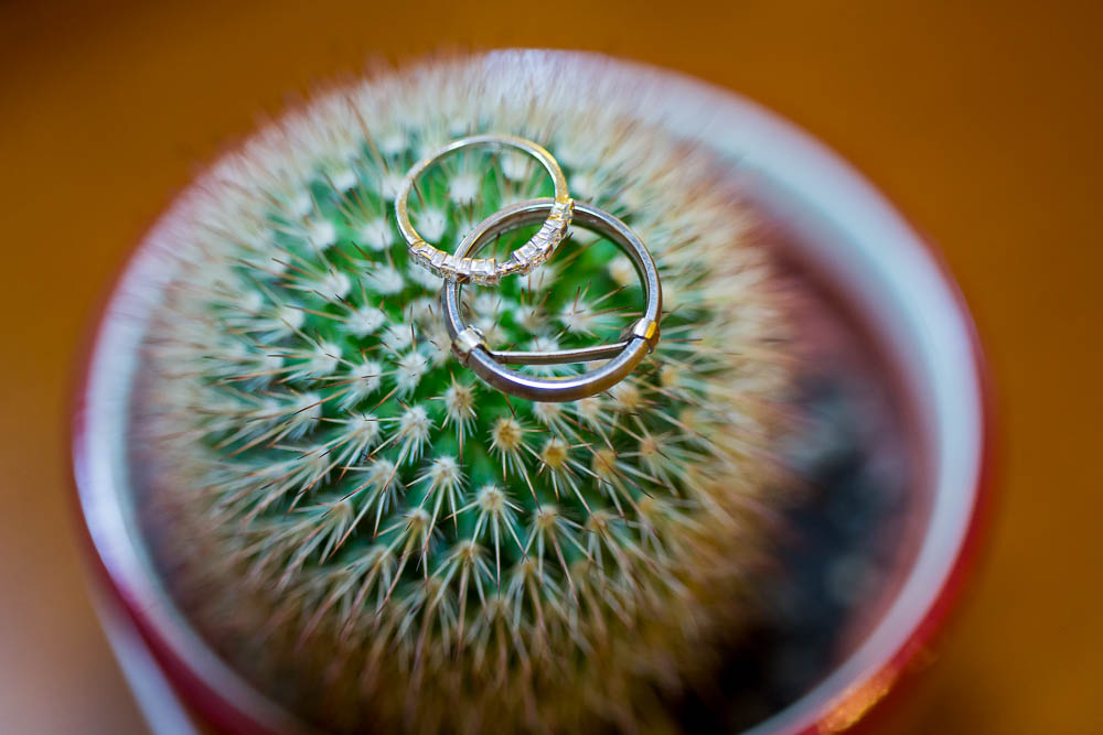
M481 221L460 244L458 256L467 257L490 242L495 235L539 220L554 205L554 199L522 202L491 215ZM460 283L447 281L441 290L445 325L452 339L453 352L479 377L494 388L534 401L574 401L612 388L627 378L658 341L658 318L663 309L663 290L658 269L640 238L628 225L608 212L588 204L575 204L575 221L601 233L631 258L643 284L643 316L631 327L627 337L613 345L545 353L496 352L486 347L481 335L463 323L460 316ZM539 378L512 370L506 365L554 365L609 359L608 363L578 376Z

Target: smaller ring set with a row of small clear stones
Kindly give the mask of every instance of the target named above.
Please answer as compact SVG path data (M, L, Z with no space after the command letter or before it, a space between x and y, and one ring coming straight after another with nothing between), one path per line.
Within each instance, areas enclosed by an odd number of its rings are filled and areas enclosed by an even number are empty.
M445 155L473 145L514 148L535 158L552 175L555 197L548 208L547 218L539 230L527 242L510 253L503 261L496 258L469 258L459 252L451 253L426 242L410 221L409 196L426 169ZM414 262L429 269L446 281L493 285L503 275L527 273L547 261L567 236L567 227L574 213L575 203L567 194L567 177L550 153L542 145L525 138L503 134L469 136L453 140L448 145L425 156L411 167L403 180L395 196L395 215L398 229L409 246Z

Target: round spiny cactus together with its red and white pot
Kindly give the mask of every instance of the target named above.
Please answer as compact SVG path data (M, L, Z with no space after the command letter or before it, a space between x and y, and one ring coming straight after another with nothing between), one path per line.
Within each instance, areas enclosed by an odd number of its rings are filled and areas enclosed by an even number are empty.
M608 391L520 400L450 353L393 201L481 132L545 145L655 258L662 339ZM849 724L944 605L984 441L967 318L861 186L746 102L572 54L288 114L164 215L100 326L75 456L109 625L238 732ZM410 206L448 250L547 187L471 153ZM531 349L640 303L585 228L464 293L488 343Z

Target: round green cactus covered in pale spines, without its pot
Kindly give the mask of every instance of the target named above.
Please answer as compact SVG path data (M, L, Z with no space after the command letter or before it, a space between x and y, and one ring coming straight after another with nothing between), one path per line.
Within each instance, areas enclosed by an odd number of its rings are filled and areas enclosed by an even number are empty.
M274 123L171 216L141 398L153 555L214 648L307 721L662 729L667 693L738 630L783 501L785 300L730 185L635 104L480 60L387 73ZM401 175L486 131L545 144L656 258L663 338L604 394L480 382L449 353L440 282L407 261ZM454 249L548 192L523 156L471 151L411 212ZM544 268L468 287L472 322L497 346L610 339L642 303L618 252L576 228Z

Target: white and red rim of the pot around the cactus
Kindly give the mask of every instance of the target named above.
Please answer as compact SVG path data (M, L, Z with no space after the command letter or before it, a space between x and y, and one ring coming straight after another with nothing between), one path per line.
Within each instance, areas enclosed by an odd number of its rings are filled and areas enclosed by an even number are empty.
M928 417L928 430L936 451L944 453L935 457L941 463L935 482L957 483L955 487L939 485L935 493L936 502L956 504L952 507L956 515L946 516L953 532L939 540L939 548L930 548L935 541L930 538L934 525L941 518L934 515L939 512L935 507L908 583L868 639L824 681L751 732L811 734L850 726L892 689L943 627L981 545L993 493L994 401L964 298L931 244L859 173L823 143L750 100L675 73L597 54L508 51L489 54L483 63L491 73L536 78L565 71L613 75L639 87L645 117L730 154L739 161L740 172L774 191L777 196L768 198L785 210L782 214L786 217L832 230L832 237L838 238L836 247L844 250L807 253L822 260L824 270L848 282L856 293L864 292L867 301L896 304L898 316L911 320L908 328L915 333L911 336L918 335L922 344L895 344L893 349L898 355L912 353L921 358L911 366L920 371L910 379L917 385L930 382L934 389L930 396L923 390L917 396L932 402L925 407L933 412ZM118 434L125 425L126 406L120 399L127 394L126 363L129 359L132 367L135 361L133 355L127 357L125 347L137 344L148 313L143 306L156 301L158 284L165 278L167 260L159 238L176 218L185 217L191 206L185 192L122 267L90 329L74 393L73 475L84 528L101 580L129 620L103 615L104 623L109 629L130 623L137 626L174 687L212 723L239 732L303 731L302 723L260 695L203 645L152 579L142 544L131 538L131 528L125 522L125 463L118 456L125 436ZM870 289L879 291L870 293ZM938 323L932 327L929 320ZM886 321L881 325L887 329L881 334L886 342L899 343L909 336L900 334L901 324ZM938 354L943 349L952 352ZM118 365L119 360L124 365ZM945 404L953 399L956 407ZM950 421L952 417L954 421ZM968 424L967 432L962 424ZM113 428L115 436L109 435ZM947 444L951 440L964 441L964 448ZM946 464L955 469L949 478ZM953 497L956 495L963 497ZM930 554L938 556L938 569L927 586L917 591L909 585ZM904 595L917 599L904 599ZM912 609L901 613L904 603ZM893 615L906 618L907 625L886 631L897 619ZM885 640L877 642L877 636ZM866 650L871 641L877 642L877 650Z

